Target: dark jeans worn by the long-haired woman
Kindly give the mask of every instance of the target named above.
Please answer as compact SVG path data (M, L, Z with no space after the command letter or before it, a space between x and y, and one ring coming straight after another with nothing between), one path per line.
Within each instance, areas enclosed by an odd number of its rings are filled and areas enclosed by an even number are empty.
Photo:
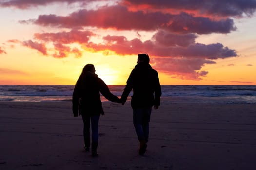
M82 115L83 119L83 139L86 147L90 146L90 120L92 123L92 142L98 143L98 116Z

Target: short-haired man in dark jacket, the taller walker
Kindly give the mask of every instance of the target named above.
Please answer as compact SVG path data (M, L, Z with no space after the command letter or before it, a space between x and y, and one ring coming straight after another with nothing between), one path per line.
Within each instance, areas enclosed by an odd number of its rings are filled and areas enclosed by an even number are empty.
M152 106L158 109L162 93L158 72L150 66L149 56L138 54L137 63L126 82L121 102L122 104L126 102L129 93L133 89L131 100L133 124L140 142L139 154L144 155L149 136L151 109Z

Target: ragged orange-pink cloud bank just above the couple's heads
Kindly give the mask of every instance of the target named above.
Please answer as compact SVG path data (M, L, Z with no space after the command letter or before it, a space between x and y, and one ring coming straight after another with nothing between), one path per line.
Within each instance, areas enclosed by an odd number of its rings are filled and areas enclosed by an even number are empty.
M78 48L71 48L72 43L78 43L82 49L93 52L101 51L104 54L108 51L113 51L118 55L148 53L153 57L152 63L159 71L180 79L192 80L200 80L201 77L208 74L207 71L201 70L205 64L215 64L213 61L215 59L237 56L235 50L224 47L221 43L208 45L195 43L197 37L195 34L173 34L160 30L153 35L152 39L144 42L138 38L128 40L125 36L107 35L102 37L103 42L98 44L90 41L92 36L98 35L78 30L37 33L35 38L42 43L30 40L24 45L46 54L46 51L50 50L44 49L46 46L40 45L53 42L54 53L52 56L55 58L64 58L71 53L80 57L82 52Z

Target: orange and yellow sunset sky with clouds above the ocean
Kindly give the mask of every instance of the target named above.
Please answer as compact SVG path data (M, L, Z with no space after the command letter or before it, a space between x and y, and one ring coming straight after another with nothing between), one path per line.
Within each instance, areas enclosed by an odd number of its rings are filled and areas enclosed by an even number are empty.
M0 85L125 85L147 53L161 85L256 85L256 0L0 0Z

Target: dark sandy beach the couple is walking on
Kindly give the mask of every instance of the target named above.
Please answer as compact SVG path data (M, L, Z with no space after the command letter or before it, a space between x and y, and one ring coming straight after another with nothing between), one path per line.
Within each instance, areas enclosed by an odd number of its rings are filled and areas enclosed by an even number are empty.
M0 170L255 170L256 104L172 104L152 111L145 156L130 103L103 102L98 158L83 149L71 102L0 102Z

